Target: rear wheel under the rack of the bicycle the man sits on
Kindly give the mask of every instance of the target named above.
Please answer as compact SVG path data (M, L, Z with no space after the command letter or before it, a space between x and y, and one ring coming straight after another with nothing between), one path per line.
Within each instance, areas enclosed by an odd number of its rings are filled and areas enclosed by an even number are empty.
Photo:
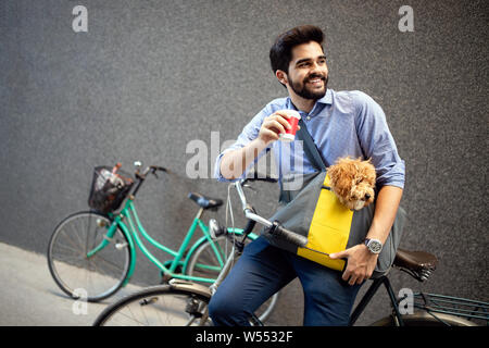
M404 326L477 326L463 318L446 314L419 311L413 314L401 315ZM383 318L371 326L399 326L396 315Z

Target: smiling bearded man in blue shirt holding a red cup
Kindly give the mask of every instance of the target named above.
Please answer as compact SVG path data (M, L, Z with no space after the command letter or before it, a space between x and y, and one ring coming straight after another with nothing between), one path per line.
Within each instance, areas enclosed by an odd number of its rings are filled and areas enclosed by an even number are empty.
M287 110L298 110L326 163L340 157L372 158L377 171L377 200L367 238L384 244L393 224L404 187L404 162L381 108L360 91L327 88L328 69L323 33L311 25L280 35L269 53L272 70L287 88L288 98L268 103L243 128L238 140L216 160L216 177L233 181L246 175L266 149L286 175L301 157L304 174L316 171L300 151L283 151L279 134L289 127ZM246 249L212 298L209 310L216 325L248 325L249 318L269 296L299 277L304 290L304 325L348 325L360 286L375 270L378 254L365 244L331 254L347 258L344 272L327 269L271 246L264 237Z

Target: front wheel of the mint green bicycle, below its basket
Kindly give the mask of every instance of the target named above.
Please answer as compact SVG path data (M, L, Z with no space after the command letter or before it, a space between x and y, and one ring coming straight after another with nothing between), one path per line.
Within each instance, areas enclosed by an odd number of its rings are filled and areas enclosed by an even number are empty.
M131 253L118 227L104 249L87 257L103 240L111 223L104 214L83 211L65 217L54 228L48 246L48 266L57 285L70 297L97 302L124 284Z

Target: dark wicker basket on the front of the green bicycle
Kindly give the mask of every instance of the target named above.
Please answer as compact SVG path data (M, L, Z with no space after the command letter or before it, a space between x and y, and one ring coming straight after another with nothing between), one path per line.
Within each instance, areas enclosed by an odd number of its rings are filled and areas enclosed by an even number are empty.
M93 170L88 206L102 213L116 211L130 191L134 179L118 170L112 173L110 166L97 166Z

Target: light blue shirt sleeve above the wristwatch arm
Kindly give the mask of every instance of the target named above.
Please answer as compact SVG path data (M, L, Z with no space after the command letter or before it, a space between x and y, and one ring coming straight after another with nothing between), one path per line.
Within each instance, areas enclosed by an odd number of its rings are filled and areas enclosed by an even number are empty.
M356 128L359 141L366 158L372 159L377 172L377 186L404 188L405 163L399 157L394 139L380 105L363 92L358 92Z

